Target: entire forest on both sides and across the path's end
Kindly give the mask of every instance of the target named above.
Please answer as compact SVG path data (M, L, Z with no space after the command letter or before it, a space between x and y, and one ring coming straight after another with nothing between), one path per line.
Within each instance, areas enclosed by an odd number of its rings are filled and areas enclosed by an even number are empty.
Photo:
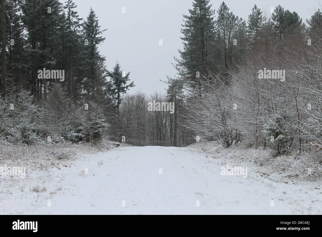
M107 69L108 30L93 9L81 19L72 0L1 0L0 139L322 152L320 9L302 19L254 5L242 19L224 2L194 0L183 19L169 62L177 74L164 79L166 94L146 95L118 62ZM153 101L175 109L149 110Z

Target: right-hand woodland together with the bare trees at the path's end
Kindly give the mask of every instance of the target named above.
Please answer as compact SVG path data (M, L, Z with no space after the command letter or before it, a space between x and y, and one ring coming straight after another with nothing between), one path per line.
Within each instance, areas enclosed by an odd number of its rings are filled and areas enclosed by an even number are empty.
M242 143L274 156L322 150L320 9L305 24L280 5L264 14L254 5L246 23L224 2L214 11L194 0L184 18L178 76L158 98L175 102L175 113L147 114L154 95L125 97L124 134L144 144Z

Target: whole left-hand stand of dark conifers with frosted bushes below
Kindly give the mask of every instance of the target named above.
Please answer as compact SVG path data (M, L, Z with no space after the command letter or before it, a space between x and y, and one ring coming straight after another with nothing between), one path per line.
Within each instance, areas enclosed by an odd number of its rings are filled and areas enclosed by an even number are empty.
M72 0L1 0L0 15L2 140L95 141L118 126L134 84L118 62L107 70L93 9L83 20Z

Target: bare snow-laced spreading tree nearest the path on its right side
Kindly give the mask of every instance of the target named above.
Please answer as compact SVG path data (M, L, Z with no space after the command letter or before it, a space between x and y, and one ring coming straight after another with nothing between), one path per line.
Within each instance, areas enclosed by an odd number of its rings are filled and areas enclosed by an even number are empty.
M240 131L231 112L227 87L218 76L200 81L204 85L187 101L186 127L207 140L218 139L224 147L240 140Z

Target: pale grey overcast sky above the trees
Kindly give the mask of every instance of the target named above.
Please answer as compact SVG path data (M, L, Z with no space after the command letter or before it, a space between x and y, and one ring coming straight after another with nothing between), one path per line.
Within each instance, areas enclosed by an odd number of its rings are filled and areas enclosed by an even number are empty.
M60 0L62 3L66 0ZM98 16L106 40L99 46L100 54L106 57L109 70L116 60L123 71L131 71L130 79L135 87L131 92L141 90L147 95L155 90L165 92L166 75L174 76L174 56L179 57L182 49L180 37L182 14L188 14L192 0L76 0L80 17L86 19L90 7ZM222 1L210 0L216 11ZM295 11L303 22L319 8L318 0L226 0L235 15L246 20L256 4L263 12L270 14L270 7L281 5ZM122 13L125 7L125 13ZM217 14L215 15L215 17ZM162 39L163 45L159 45Z

